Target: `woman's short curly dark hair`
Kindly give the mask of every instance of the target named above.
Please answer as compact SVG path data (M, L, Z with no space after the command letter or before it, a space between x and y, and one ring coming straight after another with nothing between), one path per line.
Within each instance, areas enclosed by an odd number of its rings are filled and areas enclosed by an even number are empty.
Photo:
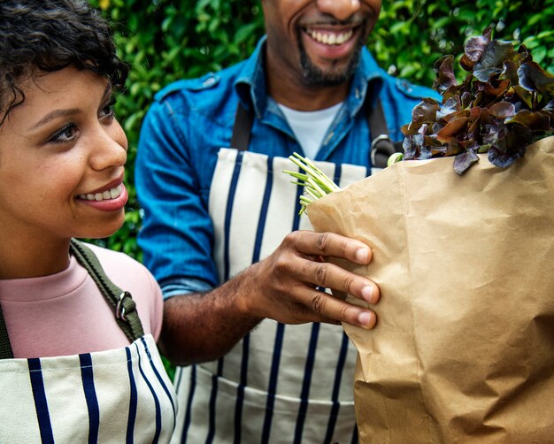
M99 11L86 0L0 0L0 126L25 100L22 82L68 66L123 88L128 66Z

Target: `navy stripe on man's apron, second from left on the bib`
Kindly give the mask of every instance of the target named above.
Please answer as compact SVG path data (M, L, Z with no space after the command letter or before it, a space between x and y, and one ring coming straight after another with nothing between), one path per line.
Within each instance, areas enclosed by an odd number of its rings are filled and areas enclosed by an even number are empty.
M267 157L267 177L265 179L264 200L258 219L258 229L256 230L256 240L254 241L254 252L252 254L252 264L259 261L262 249L262 240L264 239L265 220L267 219L267 209L269 207L269 198L273 188L273 169L272 157ZM244 404L244 387L248 384L248 358L250 349L250 333L246 333L242 339L242 362L241 362L241 383L237 388L237 397L235 405L235 443L241 442L242 431L242 406Z

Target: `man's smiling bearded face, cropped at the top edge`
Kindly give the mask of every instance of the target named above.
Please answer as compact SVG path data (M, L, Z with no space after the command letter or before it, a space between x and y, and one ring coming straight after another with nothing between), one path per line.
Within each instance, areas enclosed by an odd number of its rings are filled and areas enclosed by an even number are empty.
M306 86L350 79L381 0L262 0L267 60Z

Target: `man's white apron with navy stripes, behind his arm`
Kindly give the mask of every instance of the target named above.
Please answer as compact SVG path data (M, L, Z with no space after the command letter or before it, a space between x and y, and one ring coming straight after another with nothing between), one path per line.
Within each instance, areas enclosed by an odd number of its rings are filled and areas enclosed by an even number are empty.
M318 163L341 187L364 167ZM289 159L221 149L212 180L214 257L225 281L268 256L296 229L302 188ZM218 361L178 369L181 406L172 442L357 442L356 350L337 325L266 319Z

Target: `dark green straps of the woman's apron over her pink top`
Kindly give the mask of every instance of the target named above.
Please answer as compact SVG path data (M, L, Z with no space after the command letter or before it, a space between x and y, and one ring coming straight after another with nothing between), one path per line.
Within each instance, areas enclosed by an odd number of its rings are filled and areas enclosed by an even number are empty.
M122 291L112 280L108 278L100 261L85 244L72 239L70 251L77 259L77 262L84 267L90 277L95 281L102 295L115 310L115 319L129 341L133 342L144 335L141 319L136 311L135 301L131 294ZM0 307L0 359L12 359L13 351L8 330L5 325L4 315Z

